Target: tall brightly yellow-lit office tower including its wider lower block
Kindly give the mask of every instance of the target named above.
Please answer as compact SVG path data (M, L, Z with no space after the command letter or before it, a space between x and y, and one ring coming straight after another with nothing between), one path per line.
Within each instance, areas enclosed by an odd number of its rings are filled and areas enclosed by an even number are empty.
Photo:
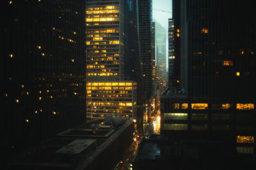
M136 117L137 82L127 80L124 67L127 6L120 0L86 1L87 118Z

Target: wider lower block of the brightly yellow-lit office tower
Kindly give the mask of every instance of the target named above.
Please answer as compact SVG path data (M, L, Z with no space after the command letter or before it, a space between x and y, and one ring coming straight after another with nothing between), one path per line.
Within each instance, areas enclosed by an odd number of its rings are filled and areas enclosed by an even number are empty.
M136 83L129 81L90 81L87 89L87 117L136 117Z

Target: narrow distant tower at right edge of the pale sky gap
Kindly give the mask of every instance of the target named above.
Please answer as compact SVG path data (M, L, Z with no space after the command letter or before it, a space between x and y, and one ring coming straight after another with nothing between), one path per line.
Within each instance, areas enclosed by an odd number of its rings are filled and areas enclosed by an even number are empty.
M168 20L168 87L175 87L175 74L174 74L174 64L175 64L175 55L174 55L174 24L173 19L169 18ZM177 80L176 80L177 83Z

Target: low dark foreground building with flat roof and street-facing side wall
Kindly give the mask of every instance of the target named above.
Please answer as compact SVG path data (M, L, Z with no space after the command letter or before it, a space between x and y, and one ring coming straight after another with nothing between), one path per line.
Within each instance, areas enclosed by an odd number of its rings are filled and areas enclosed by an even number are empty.
M17 155L10 169L114 169L132 152L134 122L123 119L114 126L102 123L91 121L59 133Z

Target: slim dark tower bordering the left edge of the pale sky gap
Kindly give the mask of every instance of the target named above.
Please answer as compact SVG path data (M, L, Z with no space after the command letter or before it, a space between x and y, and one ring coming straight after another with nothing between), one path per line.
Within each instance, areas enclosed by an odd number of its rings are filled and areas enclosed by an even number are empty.
M152 0L138 1L141 66L147 99L152 96Z

